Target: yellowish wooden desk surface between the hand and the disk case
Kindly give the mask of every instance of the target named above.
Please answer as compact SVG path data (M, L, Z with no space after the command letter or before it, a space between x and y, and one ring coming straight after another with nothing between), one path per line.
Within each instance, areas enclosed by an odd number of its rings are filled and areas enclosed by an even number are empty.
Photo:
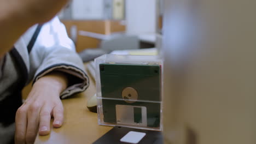
M34 143L92 143L112 129L98 125L97 113L90 112L86 107L88 98L95 92L95 81L90 79L90 86L85 92L62 100L65 110L62 127L58 129L52 127L49 135L38 135Z

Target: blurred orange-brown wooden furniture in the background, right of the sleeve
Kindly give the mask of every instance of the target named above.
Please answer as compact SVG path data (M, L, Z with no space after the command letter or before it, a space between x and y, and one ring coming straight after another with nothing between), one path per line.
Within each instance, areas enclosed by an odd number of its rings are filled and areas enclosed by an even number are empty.
M62 20L62 23L66 26L69 36L71 27L77 27L77 52L88 48L97 48L101 41L79 35L79 31L108 35L115 32L124 32L126 28L125 25L123 25L123 21L120 20Z

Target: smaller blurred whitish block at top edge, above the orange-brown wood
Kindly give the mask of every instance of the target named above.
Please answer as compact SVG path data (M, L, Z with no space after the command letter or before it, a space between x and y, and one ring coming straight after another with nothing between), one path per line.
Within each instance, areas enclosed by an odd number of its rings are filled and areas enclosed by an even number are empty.
M73 19L103 19L103 0L73 0Z

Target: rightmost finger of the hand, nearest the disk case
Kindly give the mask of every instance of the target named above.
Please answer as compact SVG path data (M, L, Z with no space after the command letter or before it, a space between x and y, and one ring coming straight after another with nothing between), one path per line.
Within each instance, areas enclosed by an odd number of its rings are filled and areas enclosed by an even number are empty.
M54 128L60 128L63 123L63 106L62 106L62 104L56 105L54 107L53 116L54 116L54 122L53 122Z

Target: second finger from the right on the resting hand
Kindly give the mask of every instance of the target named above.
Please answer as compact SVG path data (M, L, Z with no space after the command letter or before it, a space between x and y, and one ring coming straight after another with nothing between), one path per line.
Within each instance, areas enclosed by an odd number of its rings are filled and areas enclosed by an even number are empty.
M40 111L39 135L48 135L50 133L51 107L44 106Z

